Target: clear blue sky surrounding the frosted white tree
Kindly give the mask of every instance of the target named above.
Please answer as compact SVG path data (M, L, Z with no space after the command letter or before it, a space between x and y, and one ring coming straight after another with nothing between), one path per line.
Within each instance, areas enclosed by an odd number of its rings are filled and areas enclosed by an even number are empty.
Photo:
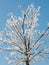
M31 3L34 3L35 7L41 6L39 24L40 29L45 29L49 21L49 0L0 0L0 31L4 30L6 26L8 13L13 12L14 15L20 16L21 12L18 6L22 5L22 8L26 9ZM7 61L4 59L5 55L6 52L0 52L0 65L8 65ZM37 65L39 64L49 65L47 62L37 63Z

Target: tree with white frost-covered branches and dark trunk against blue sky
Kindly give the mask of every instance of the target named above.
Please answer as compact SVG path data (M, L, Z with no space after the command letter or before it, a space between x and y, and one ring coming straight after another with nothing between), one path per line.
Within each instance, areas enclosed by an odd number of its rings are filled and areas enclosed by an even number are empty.
M30 62L49 59L49 23L45 31L38 29L39 10L40 7L31 4L25 11L21 10L20 17L9 14L6 28L0 33L0 45L7 45L0 50L9 51L12 56L6 57L8 63L30 65Z

